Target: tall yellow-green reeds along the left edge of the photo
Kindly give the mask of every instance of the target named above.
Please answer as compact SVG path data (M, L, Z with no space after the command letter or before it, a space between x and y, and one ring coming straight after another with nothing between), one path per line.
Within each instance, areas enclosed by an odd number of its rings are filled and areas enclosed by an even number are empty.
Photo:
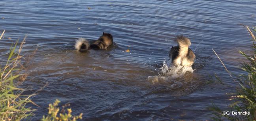
M4 32L0 35L3 38ZM26 79L27 74L21 73L24 66L21 64L23 56L21 50L26 41L11 45L9 56L4 65L0 65L0 120L1 121L19 121L33 115L33 109L26 106L28 103L34 104L31 97L34 95L23 95L25 89L18 86ZM19 45L19 46L18 46Z

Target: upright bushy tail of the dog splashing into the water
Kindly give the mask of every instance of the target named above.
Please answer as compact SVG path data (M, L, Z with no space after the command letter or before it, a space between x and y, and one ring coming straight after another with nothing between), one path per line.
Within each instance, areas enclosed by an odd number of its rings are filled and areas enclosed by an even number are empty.
M177 35L176 41L179 44L179 56L185 57L188 54L188 47L191 45L190 40L183 35Z

